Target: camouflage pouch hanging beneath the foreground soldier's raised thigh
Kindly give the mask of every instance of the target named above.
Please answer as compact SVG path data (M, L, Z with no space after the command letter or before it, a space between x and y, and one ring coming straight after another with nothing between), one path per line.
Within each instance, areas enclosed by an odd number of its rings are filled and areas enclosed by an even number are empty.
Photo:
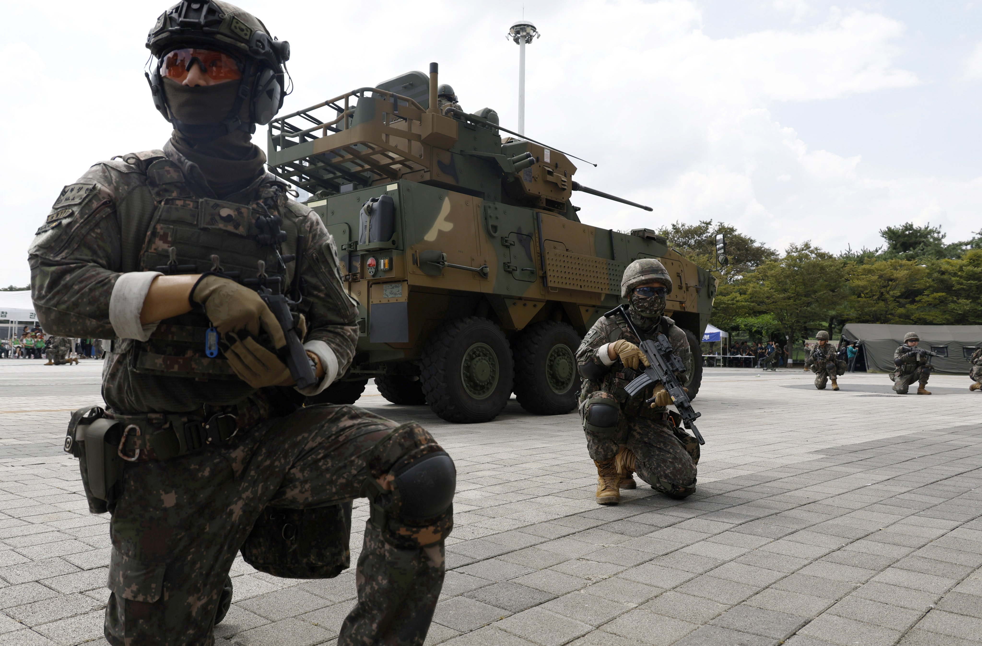
M267 507L242 546L248 565L282 578L334 578L352 564L352 503L307 510Z

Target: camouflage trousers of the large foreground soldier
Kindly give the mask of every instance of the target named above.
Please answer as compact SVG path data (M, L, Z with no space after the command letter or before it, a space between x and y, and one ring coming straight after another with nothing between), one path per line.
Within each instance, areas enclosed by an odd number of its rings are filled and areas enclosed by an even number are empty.
M211 646L223 582L263 508L358 498L413 447L432 448L426 443L439 449L414 423L398 426L354 406L310 406L220 447L128 463L112 510L106 639ZM339 645L419 645L426 637L443 585L443 539L408 548L391 535L366 523L357 603Z

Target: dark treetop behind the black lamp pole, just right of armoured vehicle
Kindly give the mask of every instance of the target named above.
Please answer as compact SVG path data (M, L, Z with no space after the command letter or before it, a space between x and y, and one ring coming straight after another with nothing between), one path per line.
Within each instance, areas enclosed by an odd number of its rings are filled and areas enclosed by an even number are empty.
M675 247L692 262L705 268L716 264L716 235L723 234L726 237L730 264L723 268L721 274L723 282L727 283L738 280L761 263L778 257L777 251L740 234L736 227L722 222L714 225L712 220L702 220L695 225L676 222L662 227L656 233L667 239L669 246Z

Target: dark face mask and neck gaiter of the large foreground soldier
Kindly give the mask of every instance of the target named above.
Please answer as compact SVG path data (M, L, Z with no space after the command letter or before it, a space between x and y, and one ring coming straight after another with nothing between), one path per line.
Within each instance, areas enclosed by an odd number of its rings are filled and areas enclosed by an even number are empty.
M216 124L232 109L239 85L239 82L226 81L191 86L164 79L164 94L171 112L181 122L195 126ZM249 123L248 101L243 105L240 118ZM218 138L192 137L175 130L171 143L201 169L208 186L219 198L246 188L263 173L266 163L262 149L253 144L252 136L243 130Z

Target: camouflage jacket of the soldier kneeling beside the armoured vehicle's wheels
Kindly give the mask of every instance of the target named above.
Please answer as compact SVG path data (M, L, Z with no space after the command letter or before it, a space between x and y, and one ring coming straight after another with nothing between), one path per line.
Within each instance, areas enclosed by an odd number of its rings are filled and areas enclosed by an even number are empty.
M669 343L679 354L685 364L685 373L680 374L679 380L682 385L688 382L693 370L692 353L688 349L688 339L681 328L676 326L675 321L667 316L663 316L657 327L646 334L647 339L654 339L658 333L664 334L669 339ZM642 332L642 334L645 334ZM607 351L607 344L613 343L618 339L625 339L632 344L640 343L629 330L621 327L621 324L614 318L601 318L583 338L583 343L576 350L576 366L580 376L590 375L593 378L583 376L582 387L579 393L580 403L585 402L590 395L597 391L611 393L618 402L626 415L644 415L651 409L644 401L652 397L654 386L645 388L634 397L628 398L625 386L638 374L627 368L620 359L615 360L610 365L605 365L598 350ZM657 412L661 415L663 408L658 408Z

